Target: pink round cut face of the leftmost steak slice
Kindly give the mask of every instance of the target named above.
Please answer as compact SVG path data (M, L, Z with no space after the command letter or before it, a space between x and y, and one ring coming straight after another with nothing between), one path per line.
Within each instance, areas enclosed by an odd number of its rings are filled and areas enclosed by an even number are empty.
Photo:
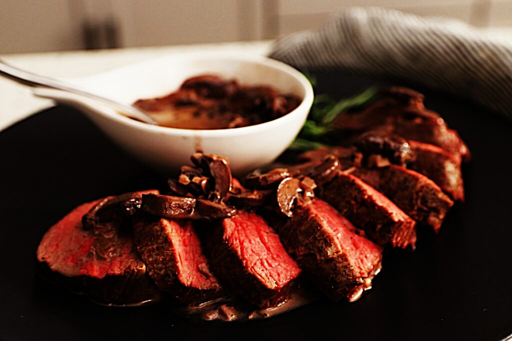
M82 230L82 216L100 200L81 204L44 235L37 248L37 259L46 262L53 271L73 277L87 275L103 278L119 275L127 269L145 270L144 263L134 251L131 236L119 236L119 257L97 259L91 252L95 236Z

